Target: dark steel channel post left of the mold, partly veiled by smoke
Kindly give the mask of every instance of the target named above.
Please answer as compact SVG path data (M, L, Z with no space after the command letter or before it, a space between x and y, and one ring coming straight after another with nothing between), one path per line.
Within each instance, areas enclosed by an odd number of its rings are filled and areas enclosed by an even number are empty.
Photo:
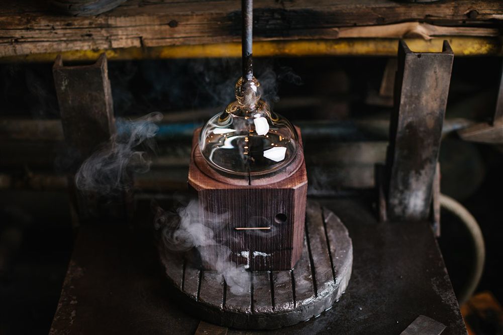
M110 80L105 54L91 65L64 66L58 55L52 68L65 141L72 158L68 170L74 222L124 220L129 197L85 194L76 190L74 175L82 162L115 134Z

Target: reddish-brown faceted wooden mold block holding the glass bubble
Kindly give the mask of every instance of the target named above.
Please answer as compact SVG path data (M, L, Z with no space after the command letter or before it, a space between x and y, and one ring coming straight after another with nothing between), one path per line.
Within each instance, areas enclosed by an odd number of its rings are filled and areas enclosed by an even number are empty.
M226 176L215 171L199 150L200 129L194 133L189 185L197 192L204 222L215 241L230 248L230 260L250 270L290 270L302 254L307 175L297 132L296 157L266 176ZM210 259L205 268L215 263L212 257L216 255L205 255Z

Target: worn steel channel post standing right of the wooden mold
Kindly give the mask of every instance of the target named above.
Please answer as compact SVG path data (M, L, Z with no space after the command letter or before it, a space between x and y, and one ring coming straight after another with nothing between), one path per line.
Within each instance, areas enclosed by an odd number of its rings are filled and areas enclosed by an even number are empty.
M454 54L398 46L395 109L388 151L390 220L428 220Z

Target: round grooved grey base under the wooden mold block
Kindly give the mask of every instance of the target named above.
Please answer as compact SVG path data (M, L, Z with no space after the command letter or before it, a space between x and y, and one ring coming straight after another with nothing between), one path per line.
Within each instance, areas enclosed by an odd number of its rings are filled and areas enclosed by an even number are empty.
M308 202L303 254L293 270L250 272L250 289L235 295L222 274L196 269L161 248L166 275L201 319L234 328L279 328L328 310L348 286L353 245L341 220Z

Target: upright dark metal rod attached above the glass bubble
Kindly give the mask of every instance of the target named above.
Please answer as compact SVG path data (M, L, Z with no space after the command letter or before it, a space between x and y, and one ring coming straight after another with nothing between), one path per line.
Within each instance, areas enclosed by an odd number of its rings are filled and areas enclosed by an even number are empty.
M253 78L253 59L251 49L253 46L253 0L241 0L241 15L243 17L241 54L243 79Z

